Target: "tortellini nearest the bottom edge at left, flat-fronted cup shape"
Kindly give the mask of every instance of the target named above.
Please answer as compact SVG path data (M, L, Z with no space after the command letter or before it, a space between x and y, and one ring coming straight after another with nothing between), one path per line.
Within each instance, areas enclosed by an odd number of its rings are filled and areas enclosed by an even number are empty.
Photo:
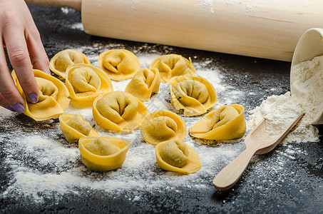
M123 138L84 137L78 141L81 161L88 170L106 171L120 168L131 145Z

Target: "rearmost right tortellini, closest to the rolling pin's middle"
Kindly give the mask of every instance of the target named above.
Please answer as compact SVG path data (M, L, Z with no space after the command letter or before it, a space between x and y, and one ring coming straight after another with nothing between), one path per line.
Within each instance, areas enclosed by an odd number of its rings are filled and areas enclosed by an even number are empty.
M178 54L168 54L156 58L149 66L150 69L157 68L161 81L168 83L174 76L193 76L195 67L192 60L188 60Z

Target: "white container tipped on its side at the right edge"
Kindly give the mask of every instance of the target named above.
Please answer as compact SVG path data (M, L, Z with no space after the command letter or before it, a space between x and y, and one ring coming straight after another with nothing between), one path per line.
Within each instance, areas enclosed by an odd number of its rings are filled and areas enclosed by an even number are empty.
M304 32L304 34L299 39L297 46L294 50L294 55L292 57L292 66L291 66L291 82L290 82L290 91L293 95L299 95L304 96L304 93L299 91L299 88L296 89L293 86L293 79L295 77L292 74L292 67L298 63L302 63L304 61L311 61L316 56L322 56L323 55L323 29L309 29ZM322 86L323 87L323 86ZM304 91L306 91L304 88ZM300 95L300 93L303 93ZM315 97L322 97L323 94L319 90L312 90L312 91L306 91L306 93L314 94ZM319 99L322 100L323 104L323 98ZM321 105L322 106L322 105ZM323 124L323 108L318 105L315 106L315 108L321 108L316 111L317 113L314 116L314 119L312 121L312 124Z

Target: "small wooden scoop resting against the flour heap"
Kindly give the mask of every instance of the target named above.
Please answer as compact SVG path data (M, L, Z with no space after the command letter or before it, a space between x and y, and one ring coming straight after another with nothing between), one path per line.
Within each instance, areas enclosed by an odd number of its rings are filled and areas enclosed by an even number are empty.
M220 173L217 173L213 180L215 188L217 188L217 190L227 190L232 188L245 171L245 168L247 168L252 156L254 156L255 153L265 154L272 151L272 149L275 148L275 146L277 146L285 136L287 136L287 133L289 133L302 116L304 116L304 113L302 113L294 123L285 128L276 139L272 139L268 136L265 119L262 119L262 121L260 121L260 123L245 137L245 151L226 165Z

